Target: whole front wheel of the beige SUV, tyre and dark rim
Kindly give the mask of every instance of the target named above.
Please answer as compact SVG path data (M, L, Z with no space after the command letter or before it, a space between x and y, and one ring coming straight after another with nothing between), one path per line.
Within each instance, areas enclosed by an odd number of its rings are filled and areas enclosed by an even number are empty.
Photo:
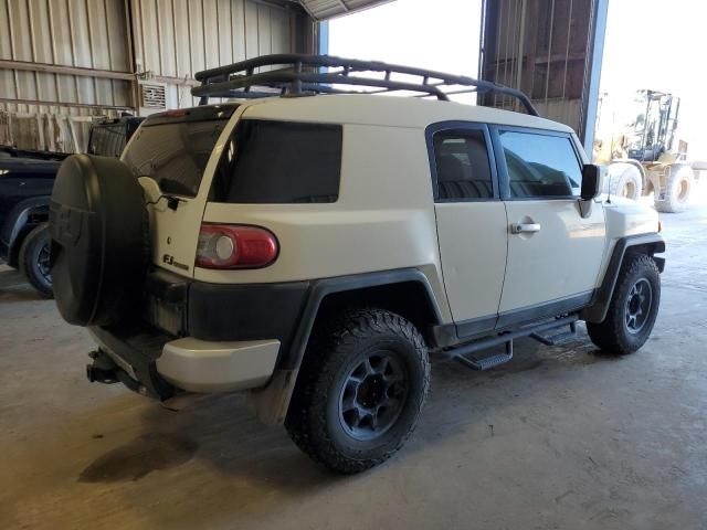
M619 273L616 287L603 322L587 322L594 344L616 354L633 353L651 335L661 303L661 274L651 256L629 257Z

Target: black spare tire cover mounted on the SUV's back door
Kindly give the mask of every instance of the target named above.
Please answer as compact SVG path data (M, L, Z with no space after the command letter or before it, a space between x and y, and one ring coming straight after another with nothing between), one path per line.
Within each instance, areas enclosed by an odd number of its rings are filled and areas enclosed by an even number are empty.
M56 174L50 205L54 297L77 326L107 326L139 315L149 256L143 189L109 157L74 155Z

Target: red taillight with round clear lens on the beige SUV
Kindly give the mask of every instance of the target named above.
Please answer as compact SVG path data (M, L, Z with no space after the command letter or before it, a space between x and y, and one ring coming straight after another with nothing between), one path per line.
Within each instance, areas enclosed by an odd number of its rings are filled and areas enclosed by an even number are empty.
M204 268L257 268L273 263L277 239L257 226L202 224L197 266Z

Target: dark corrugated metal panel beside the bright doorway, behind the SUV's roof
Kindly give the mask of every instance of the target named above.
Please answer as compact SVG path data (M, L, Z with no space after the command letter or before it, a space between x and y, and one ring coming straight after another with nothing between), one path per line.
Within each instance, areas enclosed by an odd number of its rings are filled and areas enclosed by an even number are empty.
M541 116L583 132L597 0L487 0L482 77L528 94ZM484 104L515 108L510 98Z

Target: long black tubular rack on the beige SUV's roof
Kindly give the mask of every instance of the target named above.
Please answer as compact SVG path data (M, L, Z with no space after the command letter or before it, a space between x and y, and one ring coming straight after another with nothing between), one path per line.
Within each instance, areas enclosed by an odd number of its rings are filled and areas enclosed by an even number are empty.
M274 66L281 67L274 70ZM262 70L255 72L256 68ZM383 76L381 77L380 74ZM393 74L402 74L412 80L392 80ZM414 80L415 77L419 80ZM395 91L416 93L416 97L435 96L437 99L449 100L452 94L476 92L514 97L523 104L528 114L538 116L530 98L523 92L508 86L431 70L331 55L296 53L262 55L228 66L198 72L196 78L201 82L201 85L193 87L191 94L201 98L200 105L207 105L210 97L381 94ZM357 89L357 87L363 89Z

